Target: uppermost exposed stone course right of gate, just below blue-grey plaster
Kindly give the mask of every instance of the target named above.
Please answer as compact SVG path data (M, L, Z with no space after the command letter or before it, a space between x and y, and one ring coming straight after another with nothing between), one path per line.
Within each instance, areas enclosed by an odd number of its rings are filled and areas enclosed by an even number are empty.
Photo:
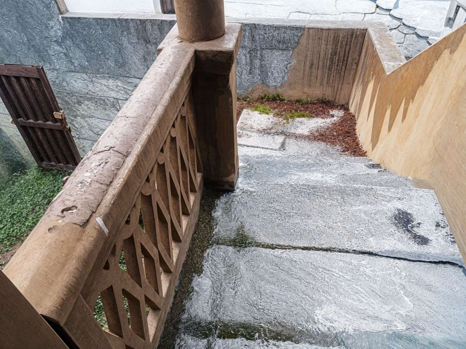
M46 69L54 91L127 100L141 79Z

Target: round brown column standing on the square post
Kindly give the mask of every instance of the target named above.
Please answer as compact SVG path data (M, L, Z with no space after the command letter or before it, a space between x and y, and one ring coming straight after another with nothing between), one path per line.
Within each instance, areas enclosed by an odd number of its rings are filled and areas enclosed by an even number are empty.
M209 41L225 34L224 0L175 0L178 36Z

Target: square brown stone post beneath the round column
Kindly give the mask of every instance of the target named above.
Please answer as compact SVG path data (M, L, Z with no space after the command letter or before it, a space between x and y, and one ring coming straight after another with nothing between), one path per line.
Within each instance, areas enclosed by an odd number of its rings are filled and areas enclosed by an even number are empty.
M241 25L227 23L225 27L225 34L218 39L187 42L178 37L175 25L158 52L186 47L195 51L192 92L204 180L207 185L234 190L238 178L236 55Z

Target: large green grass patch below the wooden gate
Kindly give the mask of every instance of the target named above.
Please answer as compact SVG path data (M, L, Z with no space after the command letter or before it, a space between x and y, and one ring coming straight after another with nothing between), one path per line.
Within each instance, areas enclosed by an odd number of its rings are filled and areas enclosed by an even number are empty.
M34 167L0 183L0 252L24 239L62 190L68 171Z

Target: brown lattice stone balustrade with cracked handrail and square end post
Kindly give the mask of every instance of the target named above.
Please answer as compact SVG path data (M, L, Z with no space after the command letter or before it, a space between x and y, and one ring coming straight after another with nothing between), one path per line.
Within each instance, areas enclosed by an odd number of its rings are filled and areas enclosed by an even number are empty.
M208 42L176 37L175 26L5 268L72 348L155 348L204 180L234 188L240 25ZM99 297L105 328L93 315Z

